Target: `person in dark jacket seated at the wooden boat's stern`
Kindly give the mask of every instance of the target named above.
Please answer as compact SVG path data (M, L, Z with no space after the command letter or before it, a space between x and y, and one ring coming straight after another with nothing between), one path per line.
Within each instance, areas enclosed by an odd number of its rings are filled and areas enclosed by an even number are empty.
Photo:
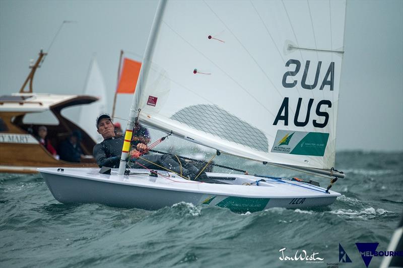
M81 133L73 131L68 139L60 143L58 148L60 159L68 162L80 162L83 151L80 146Z

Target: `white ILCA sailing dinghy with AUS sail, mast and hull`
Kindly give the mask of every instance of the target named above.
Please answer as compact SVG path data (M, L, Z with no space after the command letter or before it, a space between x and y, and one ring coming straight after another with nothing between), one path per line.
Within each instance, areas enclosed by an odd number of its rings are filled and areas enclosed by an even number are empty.
M325 176L39 168L62 203L156 210L178 202L255 212L327 206L334 169L344 1L161 1L126 129L135 122L222 154ZM94 115L95 118L95 115ZM131 140L127 131L125 140ZM124 144L123 148L129 147ZM101 169L102 171L102 169Z

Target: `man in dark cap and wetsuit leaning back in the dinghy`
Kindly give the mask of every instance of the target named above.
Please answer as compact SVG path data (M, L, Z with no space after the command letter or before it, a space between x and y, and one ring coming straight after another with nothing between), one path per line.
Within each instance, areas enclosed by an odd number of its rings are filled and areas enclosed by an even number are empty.
M124 142L123 136L116 136L114 131L114 125L109 114L101 114L96 120L97 131L102 135L104 140L94 146L93 155L99 167L119 167L121 150ZM150 137L147 137L148 130L142 126L139 126L135 132L133 132L133 143L136 148L132 151L134 155L137 151L147 149L147 143L150 141ZM145 136L146 135L146 136ZM199 170L190 163L184 162L182 166L179 165L170 155L167 154L144 154L141 158L133 159L138 168L149 169L161 169L159 166L167 168L177 174L194 180L199 173ZM197 181L209 180L206 172L201 172L197 178Z

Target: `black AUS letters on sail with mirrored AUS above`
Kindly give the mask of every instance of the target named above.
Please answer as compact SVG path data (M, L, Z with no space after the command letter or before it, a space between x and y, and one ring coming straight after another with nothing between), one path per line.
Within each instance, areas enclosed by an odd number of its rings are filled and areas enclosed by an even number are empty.
M334 62L330 62L329 66L327 67L326 74L323 76L320 76L320 70L322 67L322 62L319 61L316 66L316 73L315 73L315 79L314 81L310 81L310 83L307 83L307 76L308 76L308 70L310 64L310 60L307 60L305 63L305 68L304 68L304 73L302 75L302 79L300 82L300 85L302 88L305 90L315 90L315 88L319 87L319 90L330 90L333 91L333 86L334 86ZM298 74L298 72L301 69L301 62L297 59L290 59L286 62L286 67L291 67L292 65L295 65L295 69L293 71L286 71L283 75L283 86L285 88L292 88L295 87L298 84L298 80L292 80L294 76ZM319 77L323 77L323 80L319 82ZM290 79L291 78L291 79ZM291 81L290 81L291 80ZM298 118L301 116L303 117L303 112L301 111L301 106L302 102L304 100L302 98L298 98L298 103L297 107L291 109L292 111L295 111L294 115L294 125L296 127L305 127L309 123L309 117L310 113L312 110L312 105L314 99L309 99L308 104L304 105L303 107L306 107L306 115L305 119L300 121ZM290 100L288 97L285 97L279 111L277 113L276 119L273 122L273 125L277 125L279 121L283 121L284 126L289 125L289 103ZM304 101L306 103L306 101ZM329 114L327 112L324 112L324 109L331 108L331 101L329 100L321 100L316 104L315 108L315 113L319 118L322 118L322 120L312 120L312 125L316 128L324 128L328 121L329 121Z

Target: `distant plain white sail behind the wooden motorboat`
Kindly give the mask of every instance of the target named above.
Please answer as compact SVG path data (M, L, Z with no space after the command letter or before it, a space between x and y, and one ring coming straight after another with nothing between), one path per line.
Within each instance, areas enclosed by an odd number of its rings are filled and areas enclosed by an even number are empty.
M84 94L96 96L99 98L99 101L81 107L79 126L83 128L94 141L101 142L103 139L95 128L94 118L88 116L99 115L106 112L106 86L95 57L92 59L88 70Z

